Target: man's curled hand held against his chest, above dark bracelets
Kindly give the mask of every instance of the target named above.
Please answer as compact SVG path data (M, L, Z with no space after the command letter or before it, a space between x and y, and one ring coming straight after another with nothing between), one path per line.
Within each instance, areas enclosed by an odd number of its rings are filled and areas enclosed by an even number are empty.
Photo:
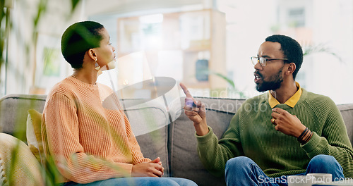
M286 135L299 137L306 129L306 126L301 123L297 116L280 108L274 108L272 111L271 116L273 118L271 122L275 125L275 130L285 133Z

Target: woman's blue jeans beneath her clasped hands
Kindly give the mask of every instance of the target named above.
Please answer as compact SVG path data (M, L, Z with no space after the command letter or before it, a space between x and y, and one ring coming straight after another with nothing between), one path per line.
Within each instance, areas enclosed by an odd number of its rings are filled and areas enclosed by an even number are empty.
M90 182L87 184L80 184L76 182L66 182L63 186L197 186L195 182L184 178L157 178L157 177L132 177L132 178L111 178L108 180L100 180Z

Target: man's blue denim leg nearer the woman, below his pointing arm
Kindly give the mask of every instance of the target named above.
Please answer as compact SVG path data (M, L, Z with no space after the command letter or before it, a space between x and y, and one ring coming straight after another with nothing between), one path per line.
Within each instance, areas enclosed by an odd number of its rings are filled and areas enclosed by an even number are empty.
M277 179L277 180L276 180ZM229 159L225 165L225 181L228 186L278 185L280 178L270 178L258 165L245 156Z

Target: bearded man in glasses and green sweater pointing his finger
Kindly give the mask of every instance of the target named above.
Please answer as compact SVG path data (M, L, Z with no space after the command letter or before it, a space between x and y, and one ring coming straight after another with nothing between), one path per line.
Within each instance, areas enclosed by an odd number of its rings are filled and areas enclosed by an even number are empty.
M270 36L251 61L256 89L268 92L247 99L220 140L207 125L205 105L181 84L184 110L208 171L225 173L227 185L287 185L286 175L307 173L352 178L352 144L340 111L330 98L295 82L303 61L299 43Z

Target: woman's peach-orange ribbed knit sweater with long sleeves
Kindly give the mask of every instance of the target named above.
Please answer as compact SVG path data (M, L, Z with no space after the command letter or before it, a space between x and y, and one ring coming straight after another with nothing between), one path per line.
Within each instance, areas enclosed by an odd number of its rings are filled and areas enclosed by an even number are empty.
M102 106L112 93L105 85L70 76L48 94L42 140L64 182L128 177L133 165L150 161L143 157L124 111Z

